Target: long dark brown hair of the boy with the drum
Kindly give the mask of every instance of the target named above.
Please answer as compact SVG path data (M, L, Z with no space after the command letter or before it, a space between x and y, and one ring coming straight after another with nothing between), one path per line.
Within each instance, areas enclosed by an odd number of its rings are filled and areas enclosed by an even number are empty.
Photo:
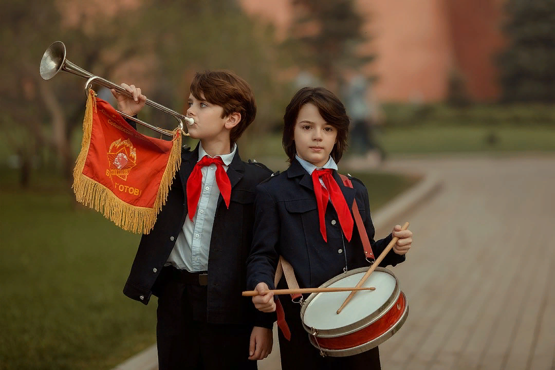
M347 116L345 106L341 103L341 100L330 90L322 87L300 89L285 108L283 139L281 141L285 154L289 157L290 162L295 158L295 124L302 106L308 103L314 104L322 118L337 129L337 142L330 155L335 163L339 163L343 152L347 148L349 116Z

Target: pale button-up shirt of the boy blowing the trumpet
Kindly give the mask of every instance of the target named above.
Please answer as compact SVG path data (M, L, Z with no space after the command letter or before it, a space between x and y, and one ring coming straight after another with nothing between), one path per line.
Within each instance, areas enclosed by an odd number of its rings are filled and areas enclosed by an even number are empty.
M225 171L228 171L228 166L231 164L236 150L237 145L234 143L231 153L216 155L216 157L219 156L223 160ZM201 160L205 155L208 154L204 151L203 145L199 144L198 160ZM186 217L185 224L179 231L179 236L166 262L166 265L173 265L180 270L208 270L210 238L220 190L218 183L216 183L215 164L201 168L201 172L203 180L196 215L194 215L193 221L189 219L189 216Z

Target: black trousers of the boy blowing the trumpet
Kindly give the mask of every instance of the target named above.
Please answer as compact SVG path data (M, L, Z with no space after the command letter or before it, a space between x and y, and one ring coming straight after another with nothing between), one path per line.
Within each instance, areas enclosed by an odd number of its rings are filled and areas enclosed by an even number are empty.
M156 328L159 370L256 369L248 359L252 326L206 322L206 286L164 275Z

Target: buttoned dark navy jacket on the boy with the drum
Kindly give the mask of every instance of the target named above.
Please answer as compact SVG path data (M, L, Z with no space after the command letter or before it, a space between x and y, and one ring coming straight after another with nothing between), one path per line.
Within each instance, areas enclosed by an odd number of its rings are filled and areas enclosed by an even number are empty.
M351 178L354 188L346 187L337 171L334 170L333 176L349 208L356 199L377 258L392 236L390 234L385 239L374 241L375 230L366 187L355 178ZM341 231L331 204L326 208L327 243L324 241L320 234L312 178L296 159L284 173L256 187L255 212L253 247L247 261L249 288L254 288L259 282L266 282L274 288L275 268L280 255L291 263L301 288L318 287L346 270L369 266L356 224L349 242ZM391 250L380 266L395 266L404 260L405 256Z

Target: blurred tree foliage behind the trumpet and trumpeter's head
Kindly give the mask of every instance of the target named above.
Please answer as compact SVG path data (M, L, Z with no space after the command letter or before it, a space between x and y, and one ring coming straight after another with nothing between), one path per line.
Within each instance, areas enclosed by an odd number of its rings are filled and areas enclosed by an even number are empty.
M186 109L196 70L225 68L253 85L258 123L249 131L264 130L278 114L274 97L282 94L274 72L280 58L272 30L235 2L143 0L130 8L122 5L129 2L113 2L119 6L115 12L103 12L107 2L102 1L3 2L0 130L9 136L4 152L18 155L24 177L37 162L59 169L68 180L73 168L71 143L82 124L84 80L65 73L41 79L39 62L55 40L64 42L67 58L79 67L118 84L144 86L149 98L174 110ZM145 111L142 118L149 121L152 113ZM158 117L150 122L175 127L173 118Z

